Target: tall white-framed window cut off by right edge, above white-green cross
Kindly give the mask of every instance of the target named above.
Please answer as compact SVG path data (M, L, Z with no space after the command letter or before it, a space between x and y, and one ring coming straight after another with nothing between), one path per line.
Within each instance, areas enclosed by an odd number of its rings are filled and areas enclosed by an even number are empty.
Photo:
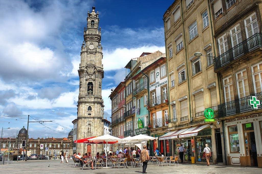
M252 66L253 83L255 93L262 91L262 62Z

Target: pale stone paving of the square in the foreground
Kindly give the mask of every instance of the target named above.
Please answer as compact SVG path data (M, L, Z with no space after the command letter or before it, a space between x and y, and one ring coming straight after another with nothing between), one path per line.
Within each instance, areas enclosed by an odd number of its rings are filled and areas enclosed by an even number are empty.
M2 163L1 163L2 164ZM50 167L48 167L50 165ZM18 161L12 164L0 165L0 173L142 173L141 167L128 169L110 169L102 168L96 170L80 170L79 167L72 167L73 160L69 163L61 164L59 160L52 161ZM179 166L163 166L158 167L155 164L149 164L146 170L147 173L262 173L262 169L256 167L238 167L238 166L218 166L218 165L201 165L201 164L179 164Z

